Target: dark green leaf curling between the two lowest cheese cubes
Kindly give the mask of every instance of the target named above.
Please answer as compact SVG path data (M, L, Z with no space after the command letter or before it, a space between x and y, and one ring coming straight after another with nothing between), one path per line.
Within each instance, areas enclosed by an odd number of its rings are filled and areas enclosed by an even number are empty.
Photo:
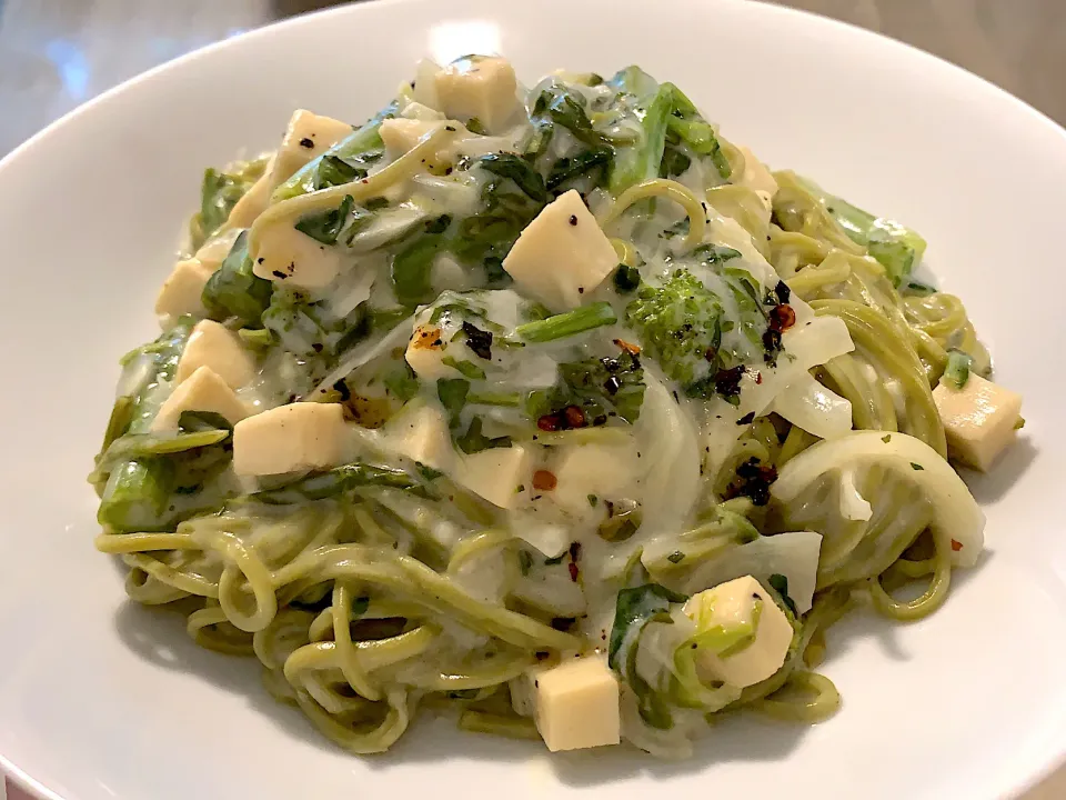
M614 624L607 647L607 664L625 681L636 698L641 717L653 728L665 730L673 727L666 702L636 671L636 653L641 634L651 622L672 624L671 603L684 602L676 594L657 583L622 589L615 601Z

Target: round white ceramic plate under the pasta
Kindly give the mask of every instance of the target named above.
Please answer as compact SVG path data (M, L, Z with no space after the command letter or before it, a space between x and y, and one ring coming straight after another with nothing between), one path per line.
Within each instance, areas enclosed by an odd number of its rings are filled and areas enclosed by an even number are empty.
M1002 382L1025 393L1025 443L972 481L988 554L927 621L834 629L825 669L844 707L831 721L728 722L683 764L622 749L549 758L449 722L356 759L273 703L254 663L128 604L93 552L84 476L115 359L152 336L202 168L271 146L296 107L358 121L420 57L486 50L527 80L640 62L772 164L905 220ZM973 76L754 3L361 4L109 92L0 163L0 767L44 797L979 800L1020 791L1066 752L1066 134Z

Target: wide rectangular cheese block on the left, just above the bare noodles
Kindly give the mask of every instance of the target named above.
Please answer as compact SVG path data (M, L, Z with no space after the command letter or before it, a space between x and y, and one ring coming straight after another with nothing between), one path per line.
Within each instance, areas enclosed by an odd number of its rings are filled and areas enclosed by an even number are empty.
M340 403L280 406L233 429L233 470L270 476L335 467L344 458L346 434Z

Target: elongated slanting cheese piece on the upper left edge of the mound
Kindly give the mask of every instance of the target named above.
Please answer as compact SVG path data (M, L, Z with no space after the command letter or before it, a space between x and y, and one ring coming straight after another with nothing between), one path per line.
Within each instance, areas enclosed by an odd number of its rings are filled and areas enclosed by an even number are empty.
M278 149L252 188L237 201L230 211L231 228L248 228L270 204L275 188L289 180L296 170L310 163L341 139L352 132L352 127L332 117L322 117L300 109L289 120L289 128Z

